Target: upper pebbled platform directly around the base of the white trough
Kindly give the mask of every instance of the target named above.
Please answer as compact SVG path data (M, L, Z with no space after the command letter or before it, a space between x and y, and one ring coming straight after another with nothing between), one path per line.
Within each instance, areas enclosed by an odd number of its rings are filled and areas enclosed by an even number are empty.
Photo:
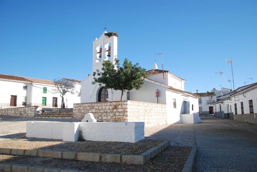
M18 149L42 149L56 151L77 151L77 152L95 152L95 153L112 153L112 154L133 154L140 155L145 151L162 143L163 140L144 139L136 143L129 142L60 142L44 141L50 139L13 139L0 141L1 148L18 148Z

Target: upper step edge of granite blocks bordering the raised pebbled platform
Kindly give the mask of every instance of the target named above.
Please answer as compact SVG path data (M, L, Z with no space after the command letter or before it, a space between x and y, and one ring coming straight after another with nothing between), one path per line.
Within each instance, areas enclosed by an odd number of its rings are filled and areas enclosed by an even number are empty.
M144 165L150 159L164 151L170 146L169 141L164 141L157 146L145 151L141 155L94 153L94 152L75 152L65 150L42 150L42 149L17 149L17 148L0 148L1 154L6 155L26 155L36 157L50 157L59 159L72 159L90 162L106 163L125 163Z

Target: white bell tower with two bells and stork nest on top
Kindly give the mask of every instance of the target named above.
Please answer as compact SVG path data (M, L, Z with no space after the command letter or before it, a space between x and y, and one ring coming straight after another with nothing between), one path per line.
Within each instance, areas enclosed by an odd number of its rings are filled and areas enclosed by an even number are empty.
M95 41L93 41L93 73L102 69L102 63L110 60L115 64L117 58L117 36L115 32L107 33L106 31Z

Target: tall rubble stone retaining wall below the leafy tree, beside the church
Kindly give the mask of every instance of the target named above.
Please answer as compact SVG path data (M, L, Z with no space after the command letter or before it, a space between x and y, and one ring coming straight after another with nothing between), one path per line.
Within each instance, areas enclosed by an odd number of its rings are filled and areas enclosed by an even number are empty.
M98 122L145 122L145 126L167 124L166 105L138 101L76 103L73 118L92 113Z

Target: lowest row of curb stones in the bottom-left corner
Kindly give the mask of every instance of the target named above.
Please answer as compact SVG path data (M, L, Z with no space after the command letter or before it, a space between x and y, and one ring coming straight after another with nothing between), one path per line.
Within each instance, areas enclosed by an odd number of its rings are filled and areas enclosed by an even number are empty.
M53 167L45 167L45 166L33 166L33 165L25 165L25 164L16 164L16 163L5 163L0 162L0 170L6 172L87 172L87 171L79 171L73 169L61 169L61 168L53 168Z

